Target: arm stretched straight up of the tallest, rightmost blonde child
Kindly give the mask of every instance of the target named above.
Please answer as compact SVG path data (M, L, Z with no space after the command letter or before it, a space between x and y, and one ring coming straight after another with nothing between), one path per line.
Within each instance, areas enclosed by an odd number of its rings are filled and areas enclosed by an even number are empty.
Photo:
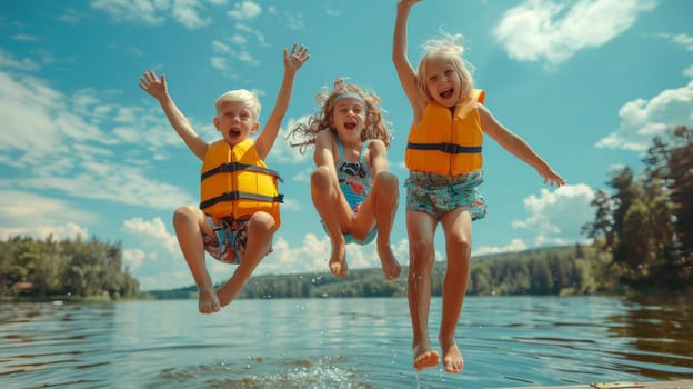
M412 6L419 1L400 0L398 2L394 37L392 39L392 62L394 62L402 89L404 89L414 111L414 123L418 123L423 117L426 103L416 86L416 72L406 57L406 21Z

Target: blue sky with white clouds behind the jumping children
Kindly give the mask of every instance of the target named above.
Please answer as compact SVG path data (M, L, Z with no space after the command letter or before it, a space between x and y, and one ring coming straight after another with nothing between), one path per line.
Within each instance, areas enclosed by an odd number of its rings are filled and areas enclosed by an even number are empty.
M395 1L79 0L0 4L0 238L96 236L122 242L141 289L192 285L171 225L197 203L200 162L138 88L165 73L208 141L214 99L255 90L274 103L282 49L305 44L281 133L317 109L337 77L373 89L394 132L391 170L403 182L409 102L391 61ZM473 256L584 241L590 200L610 171L640 158L654 134L693 124L693 2L687 0L424 0L409 24L410 60L440 29L465 36L486 107L561 173L484 143L489 215L473 223ZM281 137L281 136L280 136ZM328 272L329 241L310 201L310 156L283 138L268 158L285 194L274 252L255 273ZM409 263L404 190L392 245ZM442 233L438 259L444 259ZM378 267L375 246L349 246L351 268ZM214 281L232 266L208 260Z

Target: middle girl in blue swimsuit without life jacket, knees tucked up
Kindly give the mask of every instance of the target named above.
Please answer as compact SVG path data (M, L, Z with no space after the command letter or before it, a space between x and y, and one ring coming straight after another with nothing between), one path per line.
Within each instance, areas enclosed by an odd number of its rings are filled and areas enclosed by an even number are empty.
M385 279L400 277L400 263L390 248L398 207L399 181L388 171L390 133L380 98L343 79L318 94L320 111L289 133L301 142L300 152L314 146L315 171L311 197L330 236L330 271L348 276L346 243L366 245L378 236L378 256Z

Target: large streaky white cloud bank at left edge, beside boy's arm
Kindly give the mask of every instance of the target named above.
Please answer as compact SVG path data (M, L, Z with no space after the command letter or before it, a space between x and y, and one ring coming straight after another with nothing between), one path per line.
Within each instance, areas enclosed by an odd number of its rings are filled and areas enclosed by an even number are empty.
M139 146L129 153L149 159L162 148L181 147L153 104L151 110L109 106L93 90L64 96L44 80L2 71L0 84L0 163L22 171L16 176L21 179L8 178L6 186L27 191L59 190L73 198L157 209L194 201L185 190L148 177L151 167L131 162L112 150L119 143ZM103 120L104 114L111 120ZM109 132L108 127L114 124L122 126Z

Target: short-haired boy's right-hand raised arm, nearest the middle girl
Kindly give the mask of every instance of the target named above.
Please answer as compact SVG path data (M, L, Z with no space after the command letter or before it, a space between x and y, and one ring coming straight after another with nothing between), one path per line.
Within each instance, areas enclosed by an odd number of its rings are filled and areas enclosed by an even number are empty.
M309 59L308 48L304 46L297 48L297 44L293 44L291 52L284 49L284 76L281 87L279 88L277 101L274 102L274 109L272 109L262 132L260 132L255 140L255 149L262 159L265 159L272 149L274 140L277 140L277 134L279 133L279 127L289 109L295 72Z

